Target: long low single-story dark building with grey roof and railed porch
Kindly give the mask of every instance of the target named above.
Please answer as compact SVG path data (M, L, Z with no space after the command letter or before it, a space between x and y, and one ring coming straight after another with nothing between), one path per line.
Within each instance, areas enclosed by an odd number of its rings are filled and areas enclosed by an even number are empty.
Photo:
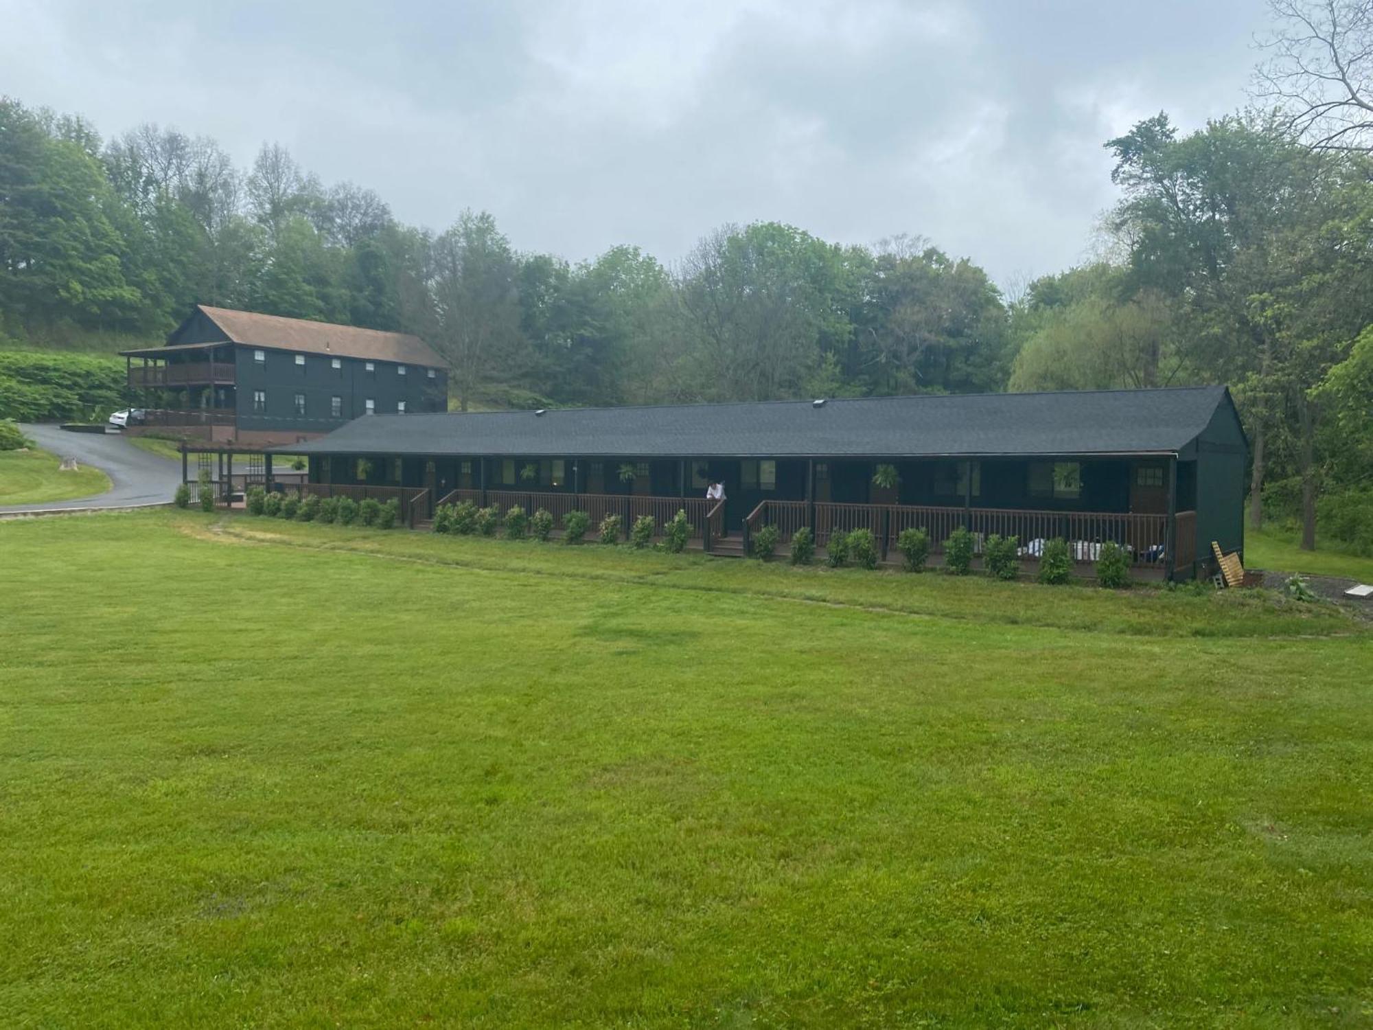
M924 527L936 560L967 526L1016 537L1028 563L1054 537L1082 566L1115 541L1160 578L1203 571L1212 540L1244 547L1247 441L1221 386L375 415L290 450L309 456L305 490L394 496L412 525L463 500L626 527L684 508L715 552L765 525L783 541L809 526L820 548L866 527L884 553Z

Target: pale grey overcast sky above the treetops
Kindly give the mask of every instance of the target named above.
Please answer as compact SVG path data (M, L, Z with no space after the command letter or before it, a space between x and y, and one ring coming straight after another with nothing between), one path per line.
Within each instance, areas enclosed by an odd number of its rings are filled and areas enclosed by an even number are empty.
M573 260L780 220L1013 283L1087 253L1104 140L1244 103L1265 23L1263 0L0 0L0 93L243 166L276 140L402 221L485 207Z

